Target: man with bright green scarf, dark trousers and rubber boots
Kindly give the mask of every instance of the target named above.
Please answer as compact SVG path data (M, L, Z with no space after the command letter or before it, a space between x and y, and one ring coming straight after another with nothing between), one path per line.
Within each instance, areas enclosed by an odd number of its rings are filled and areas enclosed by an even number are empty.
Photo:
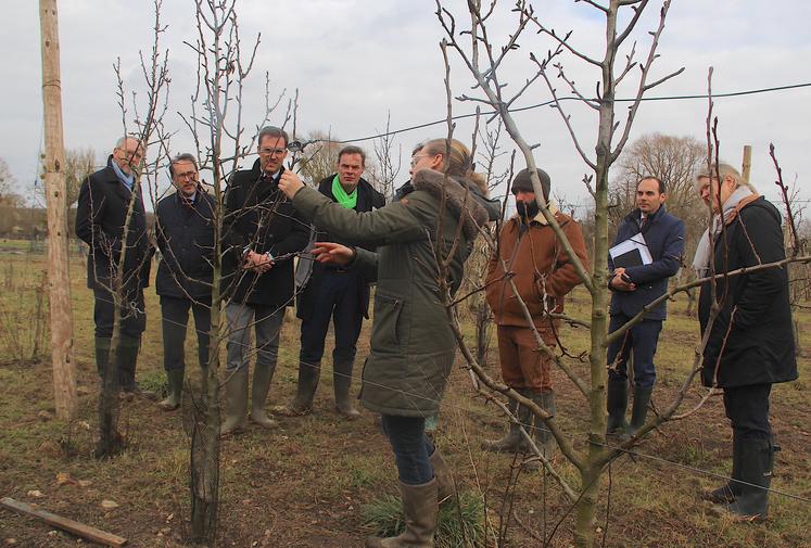
M385 196L362 177L366 168L366 153L363 149L353 145L341 149L337 167L338 173L318 184L321 194L357 213L385 205ZM326 231L318 232L317 241L347 245L357 243L337 239ZM325 339L331 320L335 333L335 346L332 351L335 409L347 418L359 416L352 406L350 386L357 337L360 335L363 319L369 317L369 281L360 271L316 262L308 282L299 294L296 311L302 320L299 384L295 398L288 410L292 415L306 415L313 409L313 398L321 372Z

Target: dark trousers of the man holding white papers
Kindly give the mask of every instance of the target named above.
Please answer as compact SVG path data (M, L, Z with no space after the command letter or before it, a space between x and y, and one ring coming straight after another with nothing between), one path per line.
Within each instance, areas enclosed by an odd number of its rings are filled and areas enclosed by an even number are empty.
M612 333L631 321L623 314L611 316L608 332ZM628 379L628 358L634 353L634 386L651 388L656 382L654 356L662 330L661 320L642 320L625 334L608 345L608 377Z

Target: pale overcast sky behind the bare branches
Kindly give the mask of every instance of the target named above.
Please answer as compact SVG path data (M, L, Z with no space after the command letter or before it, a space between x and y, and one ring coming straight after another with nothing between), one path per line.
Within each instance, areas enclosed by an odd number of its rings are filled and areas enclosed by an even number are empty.
M462 23L462 0L446 2ZM584 3L546 0L537 3L541 18L559 31L573 30L578 47L600 54L605 31L599 14ZM41 63L38 2L3 2L0 51L7 63L0 88L0 119L5 160L26 192L37 175L42 146ZM657 23L658 5L641 22L637 49L646 51L646 34ZM494 21L491 37L500 44L512 29L509 9ZM153 5L147 0L69 0L60 9L62 91L65 143L68 148L92 148L104 157L122 132L113 63L121 58L128 90L141 86L139 50L152 42ZM378 133L391 113L391 128L398 129L445 117L444 66L439 41L443 30L431 0L242 0L238 4L243 43L257 33L262 41L254 72L245 90L245 120L263 114L264 73L269 72L273 92L300 90L299 133L331 131L340 139L359 139ZM168 25L162 47L169 50L170 107L165 123L178 133L173 149L189 148L188 131L177 111L189 112L197 58L183 46L193 40L195 26L191 0L165 0L163 23ZM704 93L707 69L714 67L713 92L723 93L811 82L811 2L807 0L674 0L661 39L661 59L654 79L684 66L684 73L651 92L651 95ZM545 54L550 42L529 34L504 66L503 80L515 89L532 74L531 51ZM244 47L244 46L243 46ZM471 78L452 53L454 94L473 93ZM599 74L571 56L563 63L568 74L592 95ZM563 90L562 82L557 88ZM628 79L618 97L630 97L635 80ZM510 89L508 88L508 89ZM531 87L517 105L547 101L542 82ZM128 100L130 98L128 97ZM766 196L776 197L769 142L774 142L786 180L808 177L811 128L811 88L717 99L721 156L739 165L742 148L752 144L752 181ZM142 103L142 98L139 98ZM584 149L594 150L596 115L575 107L571 114ZM454 103L454 114L469 113L472 103ZM622 114L623 109L618 109ZM707 101L648 102L639 111L632 139L651 131L693 136L704 140ZM131 116L130 116L131 118ZM130 120L131 122L131 120ZM273 122L280 123L280 117ZM581 182L587 171L578 156L559 114L548 107L518 115L521 131L540 143L535 161L552 176L553 186L570 201L585 204ZM442 137L445 127L404 132L396 143L404 151L400 179L407 178L407 152L427 138ZM456 137L470 141L471 127L460 123ZM371 142L358 144L371 152ZM511 143L505 142L506 148ZM395 162L396 163L396 162ZM523 166L519 166L523 167ZM801 191L811 199L811 189Z

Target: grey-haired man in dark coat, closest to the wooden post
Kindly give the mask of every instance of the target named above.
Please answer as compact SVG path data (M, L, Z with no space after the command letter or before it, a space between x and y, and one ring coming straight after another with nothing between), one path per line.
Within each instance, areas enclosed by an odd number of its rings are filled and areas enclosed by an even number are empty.
M121 315L117 364L112 379L106 380L129 394L138 391L136 364L141 333L147 327L143 288L149 285L153 253L147 238L141 188L137 184L142 158L143 144L138 139L118 139L106 167L81 182L76 208L76 235L90 246L87 286L93 290L96 366L104 380L117 305ZM135 204L127 224L131 201ZM116 289L118 281L121 288Z

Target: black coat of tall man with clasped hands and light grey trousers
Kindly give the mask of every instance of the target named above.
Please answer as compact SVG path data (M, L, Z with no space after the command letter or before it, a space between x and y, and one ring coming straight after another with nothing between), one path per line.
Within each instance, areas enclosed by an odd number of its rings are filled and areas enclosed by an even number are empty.
M282 167L283 173L284 168ZM263 275L242 270L243 250L270 252L274 257L302 251L309 241L309 224L279 191L278 183L264 177L256 160L253 168L233 174L226 190L223 224L223 291L237 303L268 306L293 304L293 258L278 260Z

